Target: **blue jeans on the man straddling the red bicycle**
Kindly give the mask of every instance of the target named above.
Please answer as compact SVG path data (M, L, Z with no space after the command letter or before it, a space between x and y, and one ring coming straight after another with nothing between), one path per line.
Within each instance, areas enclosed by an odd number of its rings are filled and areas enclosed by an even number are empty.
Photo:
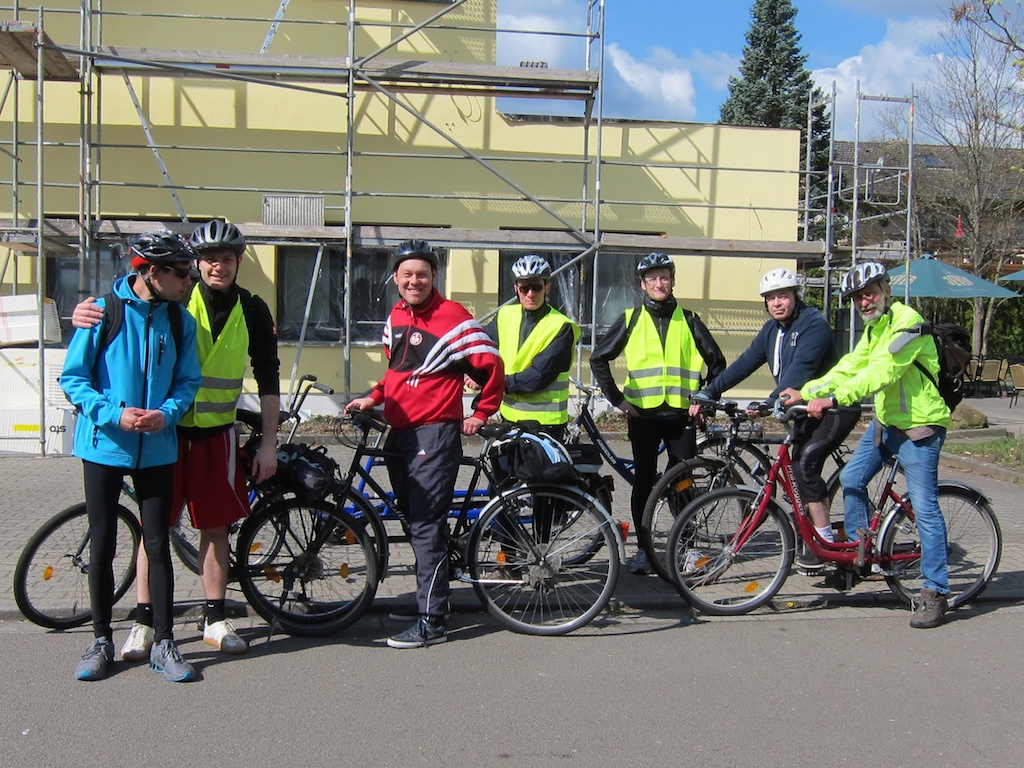
M882 430L882 441L874 446L874 430ZM906 477L907 493L921 537L921 572L924 586L941 595L949 592L946 561L946 522L939 509L939 453L946 430L937 429L931 437L912 442L905 434L872 421L860 438L849 464L843 468L843 506L846 536L855 541L858 530L867 529L868 509L876 500L867 498L867 483L879 473L886 459L899 459Z

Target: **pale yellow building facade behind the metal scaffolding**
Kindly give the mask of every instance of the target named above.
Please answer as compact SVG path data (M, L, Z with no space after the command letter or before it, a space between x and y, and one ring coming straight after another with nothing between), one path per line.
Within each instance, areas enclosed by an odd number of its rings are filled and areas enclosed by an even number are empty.
M383 373L388 249L408 238L438 247L442 291L481 317L518 256L564 267L584 361L638 301L644 253L676 258L677 297L732 360L766 318L760 276L814 252L796 242L798 132L609 120L594 66L497 63L496 0L93 5L0 12L0 288L65 318L124 271L125 234L227 218L283 386L310 372L340 401ZM581 19L581 60L599 60L597 29ZM571 116L523 106L551 98Z

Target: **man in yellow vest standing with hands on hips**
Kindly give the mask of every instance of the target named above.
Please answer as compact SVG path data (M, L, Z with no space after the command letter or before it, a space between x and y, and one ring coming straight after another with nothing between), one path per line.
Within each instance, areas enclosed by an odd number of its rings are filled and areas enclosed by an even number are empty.
M691 394L725 370L725 355L707 326L676 302L676 267L664 253L651 253L637 264L643 302L627 309L598 340L591 354L594 379L612 406L627 416L633 445L634 529L641 547L630 560L630 571L650 572L650 555L643 549L644 505L657 478L657 454L665 442L669 462L692 458L696 435L688 413ZM611 360L626 357L626 385L611 374Z

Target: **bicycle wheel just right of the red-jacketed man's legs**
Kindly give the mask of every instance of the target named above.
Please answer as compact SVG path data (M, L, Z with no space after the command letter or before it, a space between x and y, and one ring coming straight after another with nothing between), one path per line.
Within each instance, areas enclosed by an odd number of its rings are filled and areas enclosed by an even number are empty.
M595 536L601 547L589 552ZM467 547L473 589L495 618L527 635L563 635L596 616L618 579L615 522L570 486L501 494L473 525Z

